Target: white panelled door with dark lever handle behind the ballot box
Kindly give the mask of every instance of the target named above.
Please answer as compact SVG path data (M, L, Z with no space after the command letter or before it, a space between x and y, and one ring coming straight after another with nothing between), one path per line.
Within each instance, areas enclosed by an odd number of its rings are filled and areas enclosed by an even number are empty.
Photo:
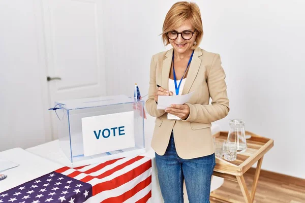
M106 95L102 2L43 0L50 104ZM47 80L47 78L46 78ZM57 138L52 113L53 138Z

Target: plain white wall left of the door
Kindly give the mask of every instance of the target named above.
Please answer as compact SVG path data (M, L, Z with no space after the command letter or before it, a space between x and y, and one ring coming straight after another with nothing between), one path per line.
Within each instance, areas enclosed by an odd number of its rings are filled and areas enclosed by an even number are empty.
M50 141L34 15L33 1L0 1L0 151Z

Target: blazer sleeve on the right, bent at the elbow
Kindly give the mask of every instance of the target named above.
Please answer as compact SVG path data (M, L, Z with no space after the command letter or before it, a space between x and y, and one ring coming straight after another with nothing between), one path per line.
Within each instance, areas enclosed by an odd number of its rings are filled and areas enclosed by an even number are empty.
M211 105L188 104L189 117L184 121L211 123L226 117L230 111L225 72L219 54L215 54L207 76Z

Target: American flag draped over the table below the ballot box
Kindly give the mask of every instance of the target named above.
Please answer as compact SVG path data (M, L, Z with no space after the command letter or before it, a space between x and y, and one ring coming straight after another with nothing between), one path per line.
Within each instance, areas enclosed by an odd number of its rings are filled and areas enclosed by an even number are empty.
M59 168L0 193L0 202L142 203L150 197L151 159L132 156Z

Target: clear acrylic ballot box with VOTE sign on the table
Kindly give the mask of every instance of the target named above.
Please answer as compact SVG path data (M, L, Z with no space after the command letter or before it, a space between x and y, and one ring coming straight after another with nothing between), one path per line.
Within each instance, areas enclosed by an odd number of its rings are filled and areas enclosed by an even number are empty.
M60 148L71 163L145 153L143 105L126 95L55 102Z

